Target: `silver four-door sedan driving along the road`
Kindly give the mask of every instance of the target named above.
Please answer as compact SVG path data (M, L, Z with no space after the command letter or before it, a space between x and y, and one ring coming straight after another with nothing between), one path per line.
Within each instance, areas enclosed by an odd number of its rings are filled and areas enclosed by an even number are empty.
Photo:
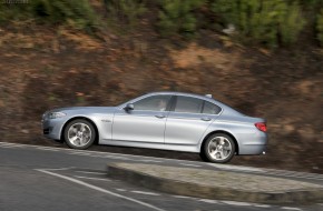
M213 99L182 92L154 92L118 107L72 107L42 115L43 134L70 148L99 144L197 152L224 163L234 154L262 154L264 119L247 117Z

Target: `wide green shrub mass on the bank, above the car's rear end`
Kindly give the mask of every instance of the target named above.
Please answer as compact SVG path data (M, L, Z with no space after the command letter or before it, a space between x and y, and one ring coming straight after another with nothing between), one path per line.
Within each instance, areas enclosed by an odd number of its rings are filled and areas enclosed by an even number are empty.
M221 24L234 24L243 40L270 47L295 42L305 23L297 2L285 0L214 0L212 11Z

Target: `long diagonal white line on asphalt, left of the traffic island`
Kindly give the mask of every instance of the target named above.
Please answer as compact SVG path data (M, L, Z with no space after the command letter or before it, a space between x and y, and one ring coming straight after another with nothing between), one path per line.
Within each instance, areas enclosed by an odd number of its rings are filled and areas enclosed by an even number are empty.
M117 197L117 198L121 198L121 199L125 199L125 200L128 200L128 201L131 201L131 202L135 202L135 203L138 203L140 205L144 205L144 207L147 207L147 208L150 208L153 210L158 210L158 211L165 211L164 209L160 209L160 208L157 208L155 205L151 205L149 203L146 203L146 202L143 202L143 201L139 201L139 200L136 200L136 199L133 199L133 198L129 198L129 197L125 197L125 195L121 195L119 193L115 193L115 192L111 192L111 191L108 191L106 189L102 189L102 188L99 188L99 187L96 187L96 185L92 185L92 184L89 184L89 183L86 183L86 182L82 182L80 180L77 180L77 179L74 179L74 178L69 178L69 177L66 177L66 175L61 175L59 173L53 173L53 172L50 172L50 171L47 171L47 170L43 170L43 169L36 169L37 171L40 171L42 173L47 173L47 174L50 174L50 175L53 175L53 177L57 177L57 178L61 178L61 179L65 179L65 180L68 180L70 182L74 182L74 183L77 183L77 184L80 184L80 185L84 185L84 187L87 187L89 189L92 189L92 190L96 190L96 191L99 191L99 192L104 192L104 193L107 193L107 194L110 194L110 195L114 195L114 197Z

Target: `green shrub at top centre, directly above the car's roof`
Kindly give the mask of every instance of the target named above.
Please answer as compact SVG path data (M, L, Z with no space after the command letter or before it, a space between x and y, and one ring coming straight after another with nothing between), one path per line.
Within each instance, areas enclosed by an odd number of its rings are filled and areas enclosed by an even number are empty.
M197 19L194 10L205 3L204 0L161 0L160 2L158 28L161 36L195 33Z

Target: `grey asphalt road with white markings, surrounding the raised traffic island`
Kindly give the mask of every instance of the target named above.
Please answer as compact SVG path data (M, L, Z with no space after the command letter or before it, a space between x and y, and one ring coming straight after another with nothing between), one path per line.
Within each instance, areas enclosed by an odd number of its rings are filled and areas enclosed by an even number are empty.
M108 162L155 163L290 178L323 185L323 175L0 142L0 210L323 210L172 195L106 177Z

